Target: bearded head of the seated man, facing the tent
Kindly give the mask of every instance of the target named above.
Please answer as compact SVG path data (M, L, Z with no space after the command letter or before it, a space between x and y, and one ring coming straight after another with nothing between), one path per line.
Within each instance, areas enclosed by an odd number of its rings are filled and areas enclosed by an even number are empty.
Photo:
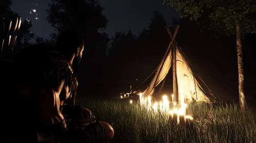
M83 56L84 40L76 31L63 31L58 36L55 51L64 55L76 73Z

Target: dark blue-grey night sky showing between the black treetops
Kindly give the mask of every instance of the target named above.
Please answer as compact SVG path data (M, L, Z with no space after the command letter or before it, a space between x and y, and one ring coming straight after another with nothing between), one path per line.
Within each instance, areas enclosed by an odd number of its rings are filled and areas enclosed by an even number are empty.
M33 21L31 29L33 33L50 39L49 34L54 32L54 29L45 19L51 0L12 0L12 2L11 9L14 12L20 14L23 20L27 17ZM129 28L135 35L139 35L143 28L148 28L153 12L156 10L163 14L168 27L171 26L172 18L178 17L178 13L173 8L163 5L159 0L107 0L99 3L105 8L103 14L109 20L108 27L104 30L109 34L109 38L113 37L115 32L127 32Z

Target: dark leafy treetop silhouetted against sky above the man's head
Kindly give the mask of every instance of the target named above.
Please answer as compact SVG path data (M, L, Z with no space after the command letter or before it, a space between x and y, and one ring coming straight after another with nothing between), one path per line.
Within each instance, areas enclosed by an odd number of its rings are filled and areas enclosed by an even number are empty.
M57 32L76 29L86 39L86 44L93 47L101 39L100 29L107 27L108 19L97 1L52 0L47 10L47 20Z

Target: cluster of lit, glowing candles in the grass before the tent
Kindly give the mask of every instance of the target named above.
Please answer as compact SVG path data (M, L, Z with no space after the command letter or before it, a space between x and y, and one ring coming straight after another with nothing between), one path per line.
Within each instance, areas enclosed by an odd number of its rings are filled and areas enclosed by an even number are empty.
M189 116L188 113L188 105L184 103L185 98L183 91L181 91L181 108L176 107L176 102L172 97L172 104L173 104L173 110L170 110L170 102L168 101L167 96L163 96L163 102L160 101L160 103L155 102L152 106L151 103L151 97L148 98L142 97L142 93L140 93L140 104L141 106L147 107L148 110L151 110L151 107L153 108L154 112L157 112L157 107L159 105L159 109L162 112L168 112L168 120L171 125L182 125L186 126L187 128L192 129L193 128L193 117ZM132 103L132 101L130 101Z

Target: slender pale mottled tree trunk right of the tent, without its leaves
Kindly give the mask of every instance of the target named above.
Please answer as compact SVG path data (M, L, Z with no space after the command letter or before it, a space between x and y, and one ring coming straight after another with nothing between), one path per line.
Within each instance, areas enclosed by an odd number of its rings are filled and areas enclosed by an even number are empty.
M246 110L246 101L244 96L244 63L243 63L243 51L242 51L242 35L240 23L237 20L235 22L235 27L237 31L237 53L238 53L238 83L239 83L239 101L240 108L242 111Z

